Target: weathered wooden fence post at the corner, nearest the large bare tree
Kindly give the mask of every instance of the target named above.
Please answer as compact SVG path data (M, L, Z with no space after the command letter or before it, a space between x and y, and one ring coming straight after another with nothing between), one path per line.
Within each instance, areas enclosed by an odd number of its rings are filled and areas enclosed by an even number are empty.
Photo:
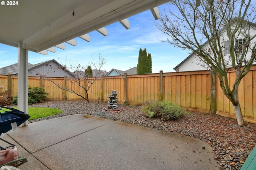
M211 76L211 110L210 113L216 114L216 74L210 70Z

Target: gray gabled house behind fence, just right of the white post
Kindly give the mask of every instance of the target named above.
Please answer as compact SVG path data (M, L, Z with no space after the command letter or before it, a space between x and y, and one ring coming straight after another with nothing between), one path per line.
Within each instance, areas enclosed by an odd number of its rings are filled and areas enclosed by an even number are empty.
M39 74L47 77L72 77L67 71L59 68L60 66L54 62L42 64L36 68L29 68L28 76L39 76Z

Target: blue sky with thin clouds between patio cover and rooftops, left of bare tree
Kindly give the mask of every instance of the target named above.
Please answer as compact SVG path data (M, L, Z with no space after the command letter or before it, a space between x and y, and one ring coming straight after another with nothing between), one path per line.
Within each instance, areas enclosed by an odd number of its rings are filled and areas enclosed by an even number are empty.
M159 6L160 12L167 8L166 4ZM55 59L61 64L70 66L81 64L87 66L92 60L98 61L99 54L106 59L102 70L110 71L112 68L128 70L137 66L140 48L146 48L152 56L152 72L160 70L174 72L173 68L188 57L188 51L173 47L160 40L166 40L168 35L162 33L156 27L155 20L150 10L128 18L130 29L125 29L119 22L106 26L108 36L104 37L97 31L88 33L91 41L87 42L76 38L77 45L74 47L67 43L66 49L56 48L56 53L48 52L41 55L29 51L28 62L37 64ZM156 20L156 22L159 22ZM0 44L0 67L18 62L17 48Z

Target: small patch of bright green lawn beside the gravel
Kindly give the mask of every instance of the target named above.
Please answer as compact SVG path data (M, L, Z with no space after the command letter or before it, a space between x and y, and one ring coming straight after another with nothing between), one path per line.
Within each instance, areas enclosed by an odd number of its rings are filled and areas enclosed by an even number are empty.
M14 107L17 109L17 107ZM0 112L4 112L4 108L0 110ZM41 117L48 117L50 115L56 115L58 113L62 113L61 109L56 108L48 108L48 107L28 107L28 114L30 118L28 120L38 119Z

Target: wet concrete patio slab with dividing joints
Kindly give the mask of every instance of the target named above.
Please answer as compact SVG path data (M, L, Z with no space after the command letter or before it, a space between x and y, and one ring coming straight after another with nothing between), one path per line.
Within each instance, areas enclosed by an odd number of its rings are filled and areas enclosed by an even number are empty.
M21 170L219 170L208 143L88 115L30 123L7 134L27 151Z

